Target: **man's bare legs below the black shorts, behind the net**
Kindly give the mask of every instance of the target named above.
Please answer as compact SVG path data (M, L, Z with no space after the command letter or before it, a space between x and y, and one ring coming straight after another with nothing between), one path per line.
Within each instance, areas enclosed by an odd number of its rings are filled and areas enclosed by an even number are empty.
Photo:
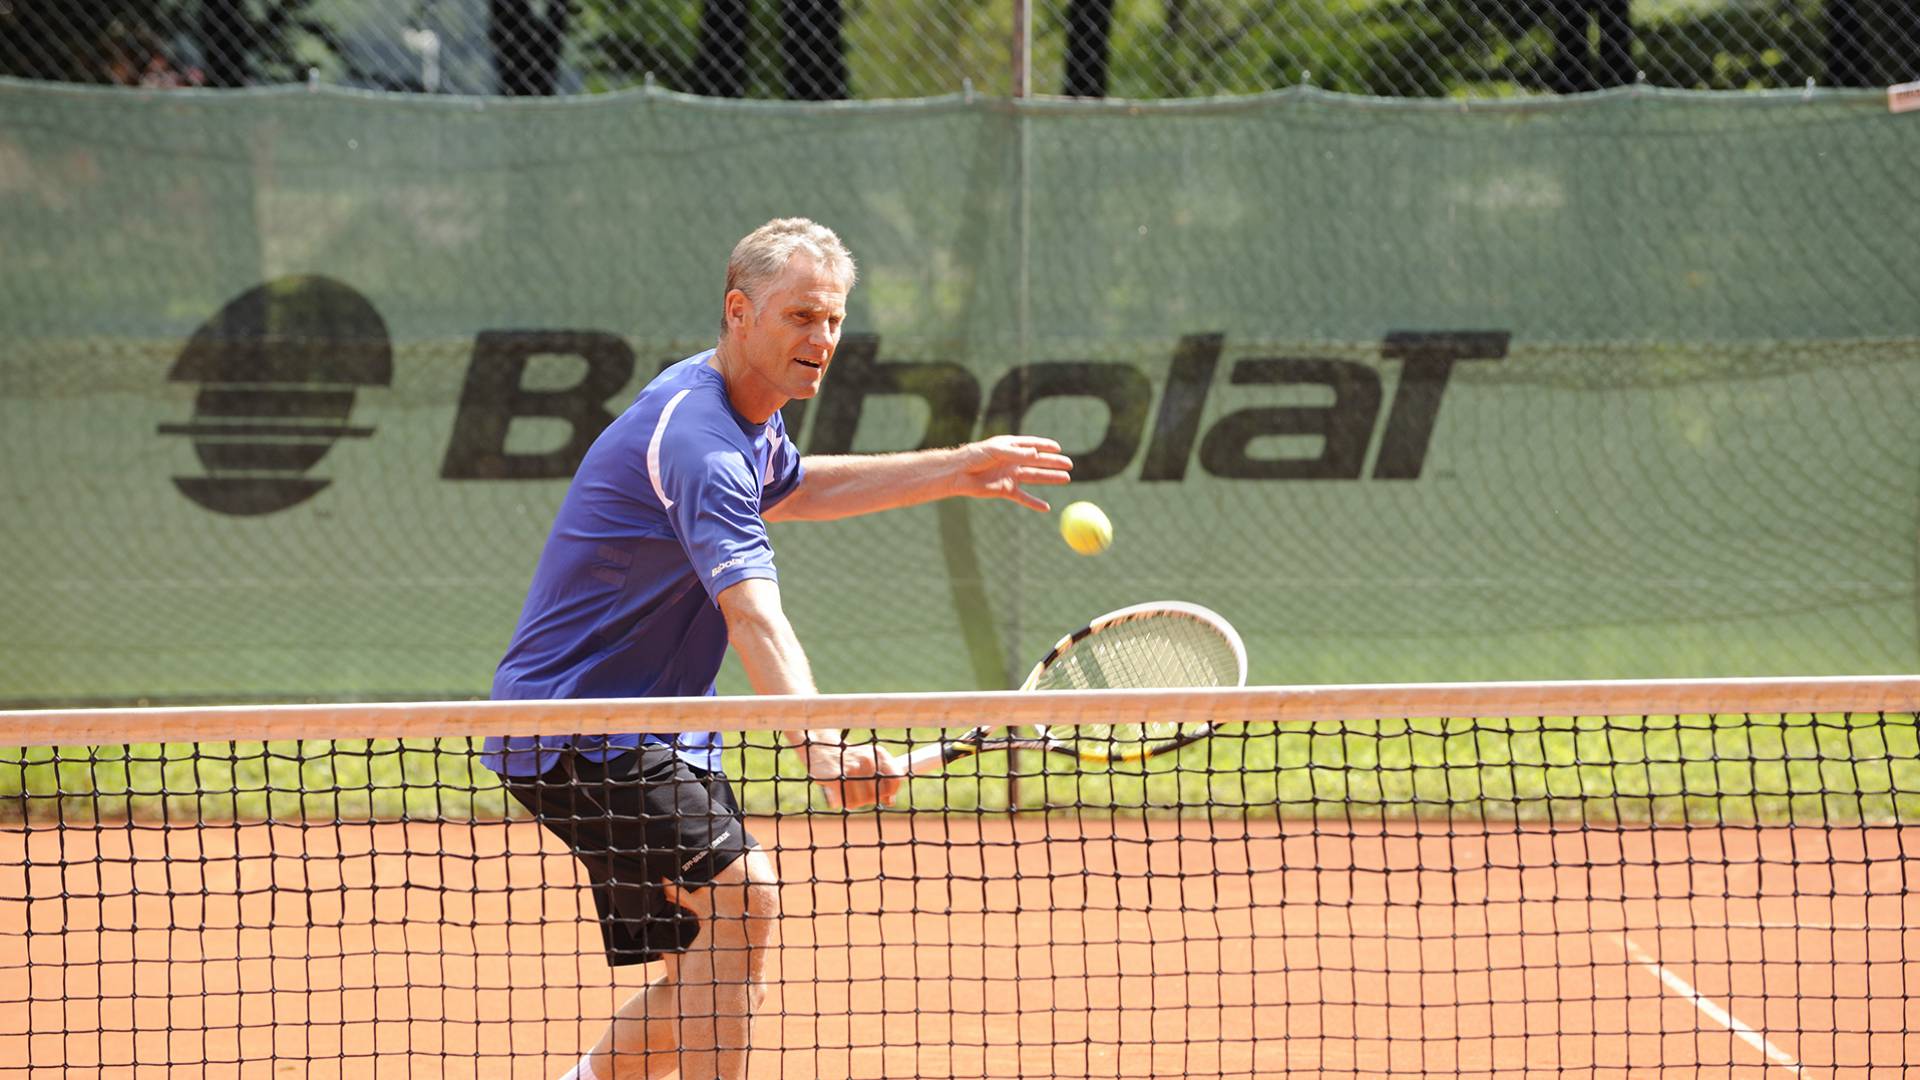
M766 961L780 886L760 847L714 874L707 888L670 888L674 903L701 920L685 953L668 953L666 972L614 1015L607 1034L576 1068L580 1080L737 1080L747 1076L753 1011L766 997Z

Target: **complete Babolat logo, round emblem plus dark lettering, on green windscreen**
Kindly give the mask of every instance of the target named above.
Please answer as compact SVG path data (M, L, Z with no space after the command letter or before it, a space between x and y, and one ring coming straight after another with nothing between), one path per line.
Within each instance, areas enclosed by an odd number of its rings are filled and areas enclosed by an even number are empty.
M1100 359L1021 363L983 384L962 363L883 359L877 336L851 334L818 402L789 402L783 413L789 432L806 432L806 454L849 454L868 402L916 398L925 405L924 450L1023 430L1041 402L1079 398L1100 405L1106 419L1094 438L1068 446L1075 482L1129 469L1144 482L1183 480L1194 465L1229 480L1415 480L1453 369L1501 359L1507 344L1507 331L1388 332L1379 346L1379 357L1398 365L1388 392L1377 363L1323 356L1223 361L1223 334L1181 338L1158 386L1133 363ZM574 357L584 371L553 386L530 377L541 357ZM632 400L636 375L639 357L607 331L480 331L440 477L572 477ZM159 425L159 432L192 438L207 469L173 482L219 513L298 505L326 488L326 479L307 471L334 442L372 434L348 423L355 390L386 386L392 377L386 323L359 292L324 277L250 290L196 331L173 365L169 379L198 382L200 394L188 423ZM1284 404L1248 400L1252 392L1271 402L1275 390ZM1219 407L1210 407L1215 400ZM543 450L513 448L509 434L522 421L564 429L566 436L543 440Z

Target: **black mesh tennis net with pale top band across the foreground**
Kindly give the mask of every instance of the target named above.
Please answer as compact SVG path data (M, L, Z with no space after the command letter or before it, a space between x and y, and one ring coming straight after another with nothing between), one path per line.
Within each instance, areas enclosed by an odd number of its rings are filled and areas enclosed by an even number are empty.
M609 967L478 736L708 728L781 882L751 1076L1901 1076L1916 707L1805 678L6 713L0 1078L561 1076L660 969ZM981 755L879 813L772 734L987 717L1221 728L1112 771Z

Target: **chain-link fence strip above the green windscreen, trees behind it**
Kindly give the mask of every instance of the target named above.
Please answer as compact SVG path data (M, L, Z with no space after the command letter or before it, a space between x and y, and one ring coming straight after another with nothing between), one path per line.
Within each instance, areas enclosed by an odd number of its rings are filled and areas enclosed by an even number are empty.
M1920 79L1920 0L0 0L0 73L787 100L1880 86Z

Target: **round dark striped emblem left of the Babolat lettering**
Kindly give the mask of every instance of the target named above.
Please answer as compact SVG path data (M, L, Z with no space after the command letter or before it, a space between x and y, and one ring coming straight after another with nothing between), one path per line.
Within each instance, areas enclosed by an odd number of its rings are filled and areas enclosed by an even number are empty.
M186 436L204 477L175 477L196 503L232 515L298 505L330 480L307 477L342 438L359 386L394 380L386 321L365 296L326 277L282 277L240 294L194 331L173 382L198 382L188 423L159 434Z

